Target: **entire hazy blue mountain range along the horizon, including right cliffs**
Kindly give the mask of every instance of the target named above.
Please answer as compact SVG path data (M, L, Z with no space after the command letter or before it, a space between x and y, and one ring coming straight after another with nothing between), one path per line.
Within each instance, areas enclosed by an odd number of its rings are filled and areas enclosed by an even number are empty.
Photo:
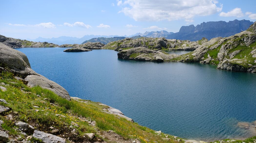
M249 20L233 20L229 22L211 21L211 22L203 22L200 25L198 24L197 26L194 26L194 25L182 26L179 32L177 33L167 32L165 30L162 30L162 31L151 31L151 32L146 31L145 33L136 33L130 36L85 35L82 38L60 36L57 38L38 37L36 39L26 39L26 40L35 41L35 42L49 42L49 43L54 43L58 45L81 44L81 43L84 43L85 41L103 42L105 44L106 42L111 42L115 39L121 40L126 37L134 37L134 36L140 35L142 37L153 37L153 38L165 37L167 39L197 41L202 39L202 37L206 37L207 39L211 39L214 37L228 37L246 30L251 24L253 24L253 22ZM109 39L105 39L105 38L109 38Z

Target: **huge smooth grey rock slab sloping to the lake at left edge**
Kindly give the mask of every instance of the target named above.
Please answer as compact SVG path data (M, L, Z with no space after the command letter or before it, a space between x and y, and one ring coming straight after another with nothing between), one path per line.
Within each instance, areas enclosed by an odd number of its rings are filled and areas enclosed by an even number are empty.
M0 43L0 55L1 69L7 68L15 75L24 78L30 87L40 86L70 100L68 92L63 87L30 68L28 58L24 53Z

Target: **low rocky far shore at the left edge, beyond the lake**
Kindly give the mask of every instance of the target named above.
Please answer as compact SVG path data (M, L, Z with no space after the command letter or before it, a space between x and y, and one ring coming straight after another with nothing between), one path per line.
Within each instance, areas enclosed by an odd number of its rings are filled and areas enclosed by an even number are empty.
M0 42L10 48L20 47L58 47L58 45L48 42L33 42L28 40L20 40L0 35Z

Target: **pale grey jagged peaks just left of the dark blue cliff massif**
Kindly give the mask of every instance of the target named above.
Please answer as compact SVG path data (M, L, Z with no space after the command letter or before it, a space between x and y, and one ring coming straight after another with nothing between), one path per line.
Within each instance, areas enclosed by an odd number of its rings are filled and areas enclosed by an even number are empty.
M167 37L170 34L173 34L173 32L167 32L165 30L162 30L162 31L151 31L151 32L146 31L145 33L136 33L136 34L131 35L131 36L140 35L140 36L143 36L143 37L160 38L160 37Z

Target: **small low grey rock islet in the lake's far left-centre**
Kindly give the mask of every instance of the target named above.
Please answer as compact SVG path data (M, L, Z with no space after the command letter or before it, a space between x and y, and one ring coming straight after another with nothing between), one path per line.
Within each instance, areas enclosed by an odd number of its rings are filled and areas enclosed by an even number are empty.
M100 42L87 42L85 44L73 44L73 45L61 45L60 47L73 47L70 49L64 50L64 52L84 52L84 51L91 51L92 49L101 49L105 44Z

